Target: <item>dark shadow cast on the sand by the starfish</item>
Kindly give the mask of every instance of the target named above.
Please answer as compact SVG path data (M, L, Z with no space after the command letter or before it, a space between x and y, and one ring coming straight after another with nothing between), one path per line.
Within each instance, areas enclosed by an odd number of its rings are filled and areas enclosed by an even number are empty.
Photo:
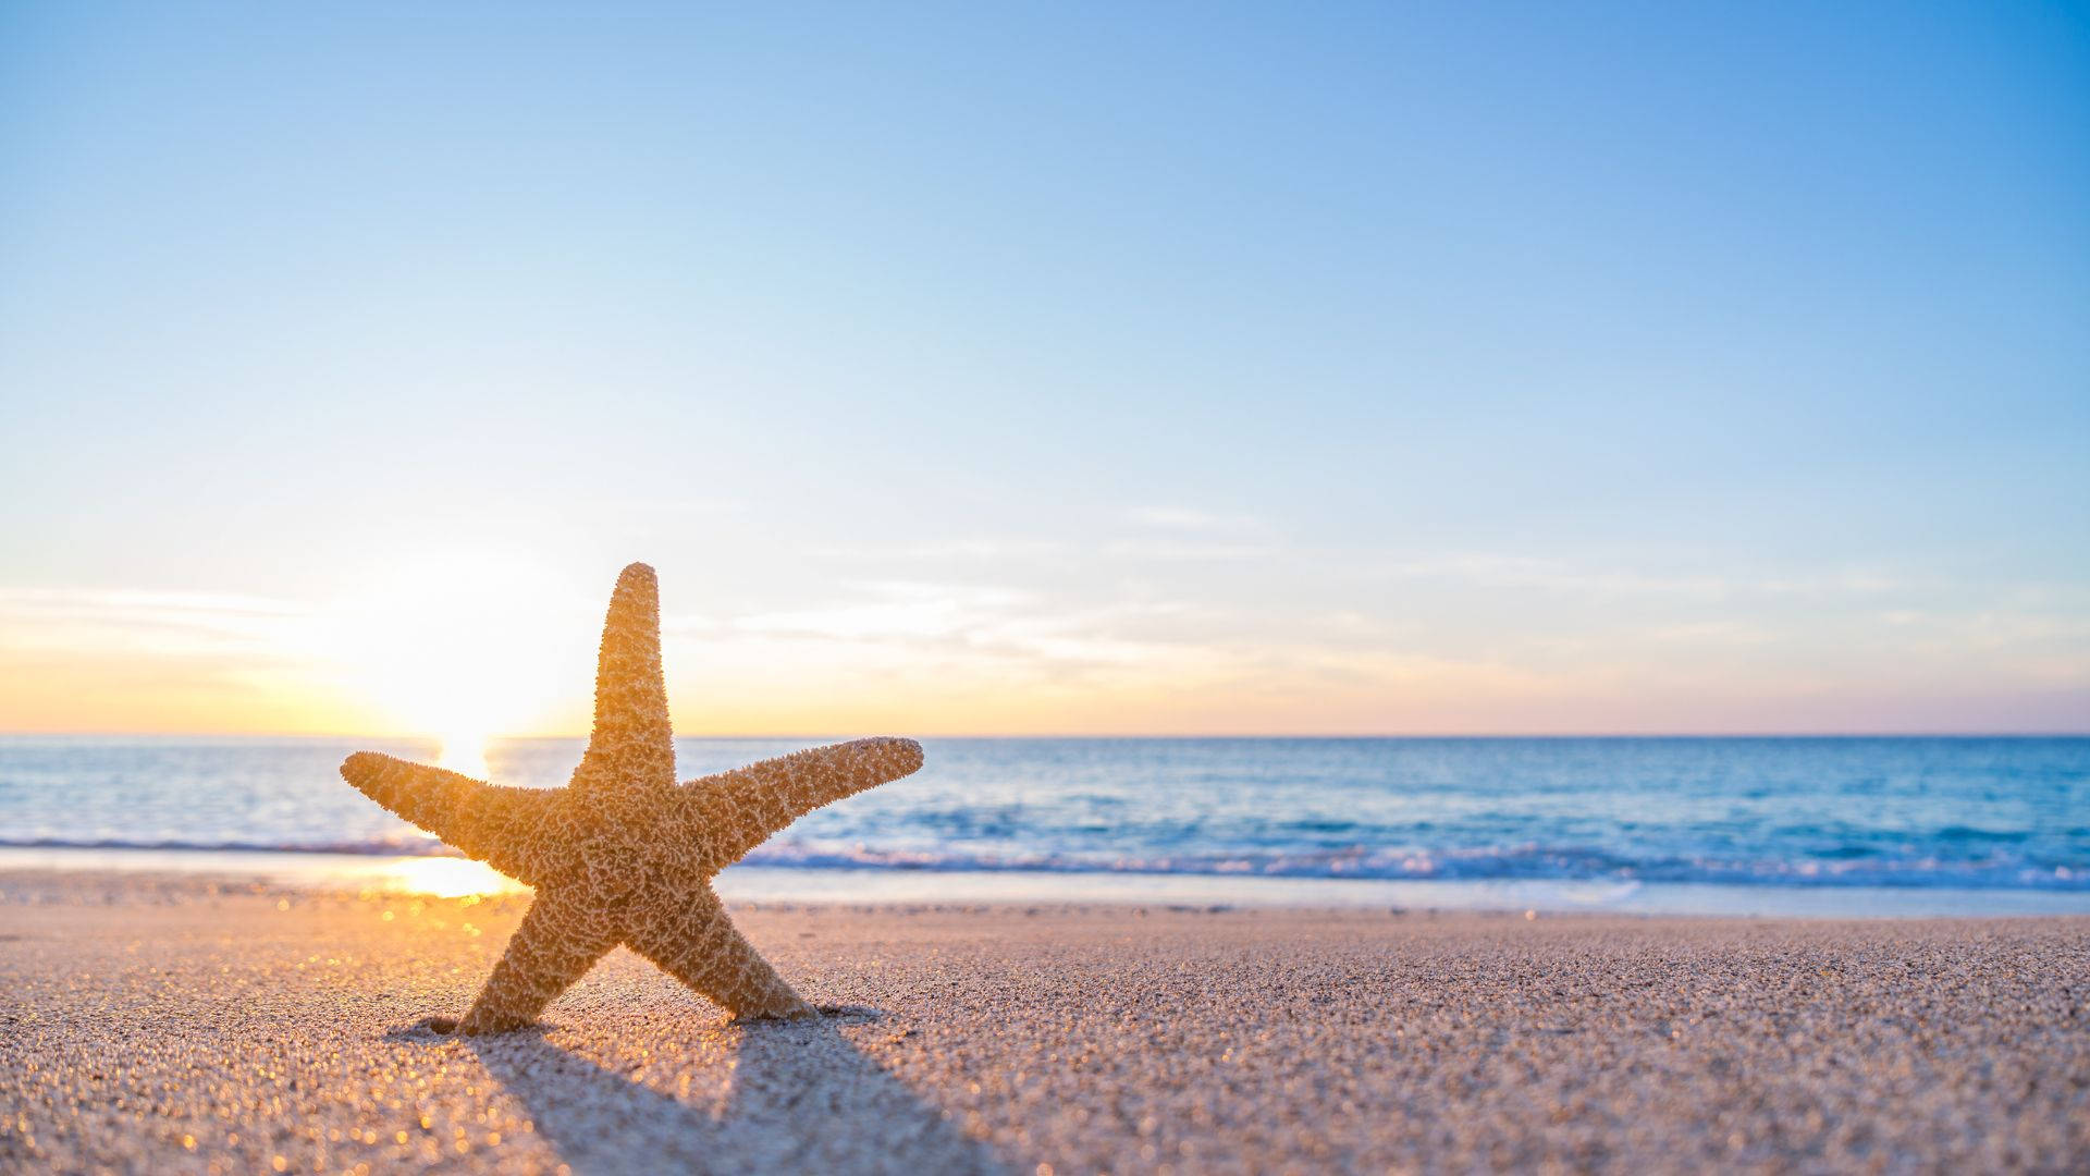
M671 1094L554 1044L543 1027L456 1038L512 1094L575 1176L617 1172L1007 1174L986 1145L872 1061L838 1023L729 1021L723 1094ZM393 1040L449 1040L426 1027Z

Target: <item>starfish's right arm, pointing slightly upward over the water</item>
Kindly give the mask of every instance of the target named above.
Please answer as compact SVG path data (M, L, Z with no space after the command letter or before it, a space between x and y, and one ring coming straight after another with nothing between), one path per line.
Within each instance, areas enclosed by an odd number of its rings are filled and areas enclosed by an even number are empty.
M683 818L723 870L792 820L922 768L913 739L859 739L763 760L681 789Z

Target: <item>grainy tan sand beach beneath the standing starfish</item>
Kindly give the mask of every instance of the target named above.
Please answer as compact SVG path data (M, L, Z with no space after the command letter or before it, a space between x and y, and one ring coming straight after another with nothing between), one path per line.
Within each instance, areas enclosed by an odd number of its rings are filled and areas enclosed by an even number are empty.
M819 1021L614 952L456 1015L527 898L0 877L0 1168L2080 1170L2090 919L738 908Z

